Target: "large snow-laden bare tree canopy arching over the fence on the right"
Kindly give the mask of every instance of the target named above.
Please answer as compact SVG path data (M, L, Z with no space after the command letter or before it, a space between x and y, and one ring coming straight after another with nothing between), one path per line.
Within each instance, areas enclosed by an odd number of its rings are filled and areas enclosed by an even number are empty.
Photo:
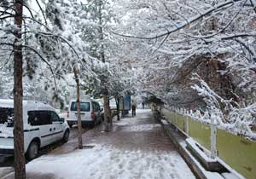
M210 105L190 88L197 72L233 108L243 108L255 103L254 3L119 1L121 26L114 32L130 48L137 46L138 61L129 62L142 66L143 89L166 104L203 110Z

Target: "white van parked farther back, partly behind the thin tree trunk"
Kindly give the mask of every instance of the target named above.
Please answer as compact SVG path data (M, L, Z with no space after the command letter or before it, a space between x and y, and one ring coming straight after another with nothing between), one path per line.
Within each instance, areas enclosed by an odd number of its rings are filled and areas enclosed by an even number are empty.
M80 101L80 113L82 124L90 124L94 126L102 122L101 107L100 104L90 98ZM76 100L69 102L67 111L67 124L71 127L73 124L78 124L78 111Z

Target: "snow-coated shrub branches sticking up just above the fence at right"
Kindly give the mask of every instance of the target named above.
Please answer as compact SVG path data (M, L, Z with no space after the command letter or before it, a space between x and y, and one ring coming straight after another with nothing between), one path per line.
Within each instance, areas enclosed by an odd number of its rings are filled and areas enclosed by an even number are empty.
M256 133L251 130L252 126L256 124L256 103L241 107L232 99L225 100L216 94L199 75L194 74L192 80L199 83L191 88L203 97L207 109L201 112L198 110L188 112L185 109L174 107L176 112L189 115L202 122L214 121L213 124L217 124L221 129L256 139Z

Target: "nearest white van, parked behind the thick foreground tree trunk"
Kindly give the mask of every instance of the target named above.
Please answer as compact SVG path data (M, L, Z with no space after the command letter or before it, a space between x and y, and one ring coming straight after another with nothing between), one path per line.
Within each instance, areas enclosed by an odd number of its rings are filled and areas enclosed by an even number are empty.
M24 149L34 159L40 147L67 142L69 127L53 107L41 101L23 101ZM0 100L0 155L14 154L14 101Z

